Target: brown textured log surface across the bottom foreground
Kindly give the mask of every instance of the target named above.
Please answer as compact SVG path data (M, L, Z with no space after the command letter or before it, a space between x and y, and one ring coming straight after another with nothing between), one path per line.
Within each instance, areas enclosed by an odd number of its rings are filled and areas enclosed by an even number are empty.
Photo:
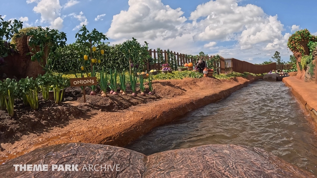
M13 164L48 164L48 171L15 171ZM52 164L78 164L79 171L52 171ZM119 171L83 169L89 164L120 166ZM12 159L0 169L0 177L315 177L263 149L217 144L150 156L108 145L59 144Z

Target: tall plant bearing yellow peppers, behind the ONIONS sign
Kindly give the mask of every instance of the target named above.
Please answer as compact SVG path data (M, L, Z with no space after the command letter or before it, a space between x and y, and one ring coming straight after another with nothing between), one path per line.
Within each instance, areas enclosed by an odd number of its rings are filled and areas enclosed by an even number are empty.
M78 58L81 61L81 65L88 76L89 71L93 70L94 63L97 63L98 61L97 59L93 58L93 52L96 52L98 48L100 54L103 54L104 51L101 51L101 40L108 40L108 38L106 35L96 29L93 29L91 32L89 32L86 25L83 25L81 29L79 29L75 35L75 38L77 38L75 43L77 44L77 51L79 54ZM97 53L94 55L97 55Z

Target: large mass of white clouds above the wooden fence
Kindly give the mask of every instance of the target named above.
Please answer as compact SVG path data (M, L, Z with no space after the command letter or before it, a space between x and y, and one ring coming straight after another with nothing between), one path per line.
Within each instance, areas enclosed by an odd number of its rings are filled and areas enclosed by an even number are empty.
M284 25L277 15L268 16L256 5L240 6L238 0L210 0L198 5L190 17L183 14L180 8L172 9L161 0L129 0L129 9L113 16L107 35L115 43L132 37L161 48L171 48L175 43L178 47L173 50L182 52L198 53L204 47L226 55L234 55L238 50L248 55L263 51L262 56L274 50L280 50L281 55L288 53L290 34L282 34ZM231 49L216 46L224 41L234 43ZM201 43L197 49L196 45Z

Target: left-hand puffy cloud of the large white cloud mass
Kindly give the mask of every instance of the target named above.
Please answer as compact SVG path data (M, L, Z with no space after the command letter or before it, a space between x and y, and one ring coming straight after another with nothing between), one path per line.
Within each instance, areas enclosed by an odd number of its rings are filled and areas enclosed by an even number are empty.
M187 20L180 8L172 9L160 0L129 0L129 9L113 16L107 35L120 38L168 39L181 36Z

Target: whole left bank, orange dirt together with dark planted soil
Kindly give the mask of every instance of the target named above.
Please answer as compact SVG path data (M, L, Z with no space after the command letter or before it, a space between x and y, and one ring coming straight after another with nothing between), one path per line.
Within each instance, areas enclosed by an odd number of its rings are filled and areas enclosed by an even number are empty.
M13 124L6 125L7 128L13 128L11 132L15 136L1 138L4 150L0 152L0 162L6 162L36 148L60 143L83 142L122 147L152 128L169 123L201 106L217 102L260 78L262 77L250 75L247 79L237 77L231 80L157 80L153 81L155 96L109 94L108 98L102 98L100 94L86 95L86 104L81 103L80 88L68 89L62 105L47 102L47 105L41 106L37 111L24 109L23 113L22 108L21 111L16 111L15 118L11 119L14 120L11 121ZM89 89L86 92L89 93ZM37 123L41 124L35 126L32 123L37 119ZM5 123L9 123L9 118L6 117L5 120ZM3 133L6 133L5 129Z

